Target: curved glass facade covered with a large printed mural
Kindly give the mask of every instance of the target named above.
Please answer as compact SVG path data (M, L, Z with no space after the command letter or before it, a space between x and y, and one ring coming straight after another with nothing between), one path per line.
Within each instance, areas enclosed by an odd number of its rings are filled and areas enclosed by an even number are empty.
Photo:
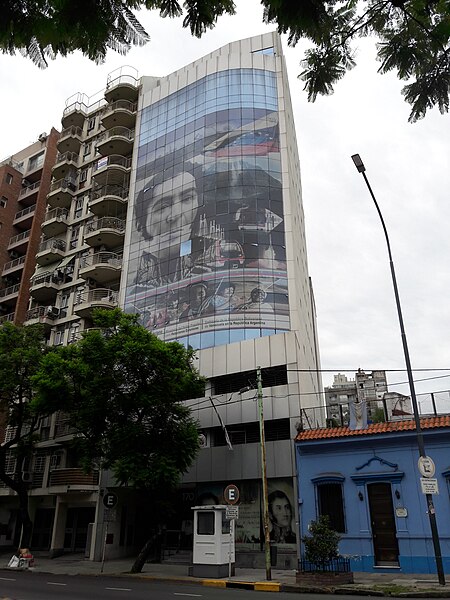
M289 330L275 73L208 75L142 111L125 307L207 348Z

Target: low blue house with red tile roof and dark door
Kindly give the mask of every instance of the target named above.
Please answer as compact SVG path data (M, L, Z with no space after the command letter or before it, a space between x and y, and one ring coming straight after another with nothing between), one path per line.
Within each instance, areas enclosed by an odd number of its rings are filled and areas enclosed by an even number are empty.
M436 466L433 501L449 573L450 416L422 418L421 425ZM436 573L413 420L303 431L295 447L300 538L312 520L327 514L353 571Z

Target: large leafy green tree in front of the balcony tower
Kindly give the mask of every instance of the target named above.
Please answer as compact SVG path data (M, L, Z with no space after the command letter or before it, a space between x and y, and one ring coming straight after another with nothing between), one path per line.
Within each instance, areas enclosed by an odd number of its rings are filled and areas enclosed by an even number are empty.
M118 485L145 493L157 530L199 449L197 424L182 400L203 395L204 382L192 350L163 342L137 316L99 310L94 324L78 343L45 356L34 406L67 413L80 463L111 469ZM149 537L133 572L155 540Z

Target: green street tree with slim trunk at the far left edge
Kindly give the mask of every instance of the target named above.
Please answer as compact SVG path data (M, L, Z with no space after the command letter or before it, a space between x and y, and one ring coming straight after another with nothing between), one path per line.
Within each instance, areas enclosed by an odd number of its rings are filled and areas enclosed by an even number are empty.
M16 492L19 500L22 547L31 545L33 528L28 512L29 484L24 481L23 471L31 460L39 421L46 415L32 410L32 380L44 349L40 326L5 323L0 327L0 423L8 432L0 445L0 480Z

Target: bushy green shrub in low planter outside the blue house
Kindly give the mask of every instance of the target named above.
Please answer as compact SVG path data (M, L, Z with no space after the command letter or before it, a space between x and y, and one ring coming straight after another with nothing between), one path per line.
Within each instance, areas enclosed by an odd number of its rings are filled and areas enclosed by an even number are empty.
M305 555L299 562L297 582L316 585L353 583L350 561L339 556L341 536L330 524L328 515L321 515L309 524L309 535L303 538Z

